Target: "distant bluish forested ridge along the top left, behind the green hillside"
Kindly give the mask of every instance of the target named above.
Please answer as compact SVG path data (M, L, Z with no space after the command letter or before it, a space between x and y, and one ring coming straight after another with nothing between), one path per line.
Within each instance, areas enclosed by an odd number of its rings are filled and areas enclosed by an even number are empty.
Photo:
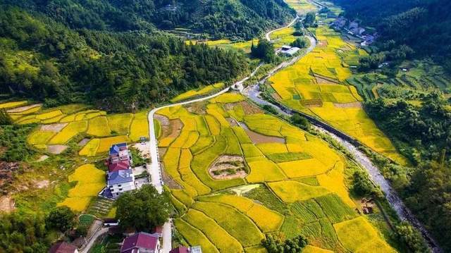
M149 30L188 27L215 37L251 39L294 16L282 0L3 0L78 29Z

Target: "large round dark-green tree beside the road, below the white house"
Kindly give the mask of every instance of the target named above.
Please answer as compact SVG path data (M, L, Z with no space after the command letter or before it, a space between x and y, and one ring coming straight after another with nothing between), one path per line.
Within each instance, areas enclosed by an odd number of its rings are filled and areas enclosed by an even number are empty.
M169 218L168 195L160 195L152 185L125 192L116 200L116 207L116 218L121 220L120 226L123 229L149 231L162 226Z

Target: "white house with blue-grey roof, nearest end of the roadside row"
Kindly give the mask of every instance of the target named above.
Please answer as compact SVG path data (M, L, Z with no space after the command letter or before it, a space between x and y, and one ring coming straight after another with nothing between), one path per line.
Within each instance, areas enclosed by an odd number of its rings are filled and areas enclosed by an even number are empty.
M132 169L109 172L106 188L111 192L113 198L123 192L135 190L135 175L133 175Z

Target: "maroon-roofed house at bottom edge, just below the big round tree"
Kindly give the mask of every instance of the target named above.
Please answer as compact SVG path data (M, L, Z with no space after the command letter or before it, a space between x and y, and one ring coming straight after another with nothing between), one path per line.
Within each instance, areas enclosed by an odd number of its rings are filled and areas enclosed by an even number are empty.
M156 253L159 250L159 237L144 232L125 238L121 247L121 253Z

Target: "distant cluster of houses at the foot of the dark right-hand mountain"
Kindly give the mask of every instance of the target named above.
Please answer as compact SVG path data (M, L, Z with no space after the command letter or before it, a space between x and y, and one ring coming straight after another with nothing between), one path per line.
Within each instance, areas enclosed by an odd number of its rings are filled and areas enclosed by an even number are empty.
M355 21L347 20L346 18L340 17L333 21L333 23L330 24L333 29L335 30L345 30L350 35L354 35L355 37L358 37L363 40L361 43L362 46L369 46L373 44L375 39L377 38L378 34L377 32L374 32L373 34L369 34L369 32L359 25L359 23Z

